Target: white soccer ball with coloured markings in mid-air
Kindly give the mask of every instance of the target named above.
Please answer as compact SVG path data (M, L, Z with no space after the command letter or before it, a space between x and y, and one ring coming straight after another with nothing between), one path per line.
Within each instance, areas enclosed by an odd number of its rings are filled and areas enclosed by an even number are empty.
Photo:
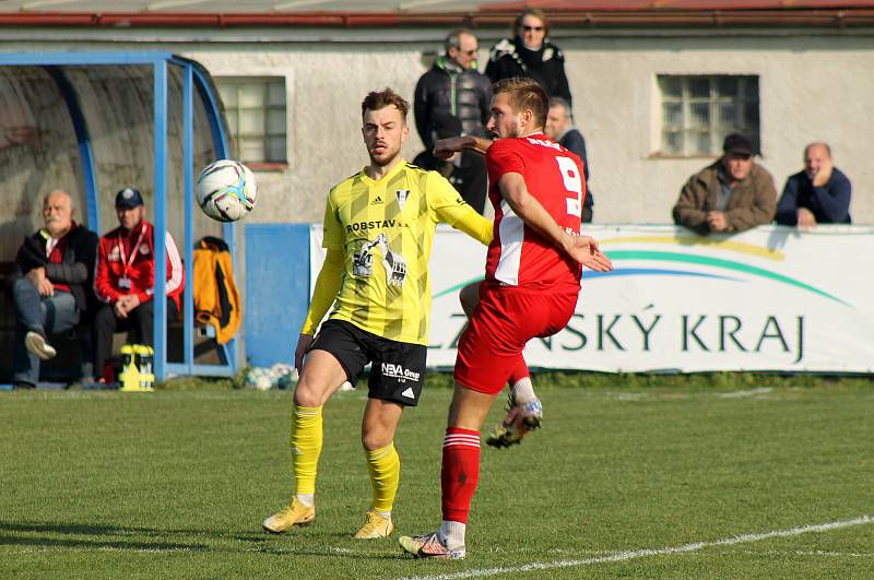
M255 208L257 192L251 169L232 159L209 164L194 180L198 205L218 222L245 217Z

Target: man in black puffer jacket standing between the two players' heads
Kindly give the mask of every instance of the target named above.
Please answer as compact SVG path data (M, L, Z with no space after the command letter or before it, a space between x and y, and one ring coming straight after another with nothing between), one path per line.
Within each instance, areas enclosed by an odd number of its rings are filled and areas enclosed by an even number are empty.
M437 139L460 134L485 137L492 83L476 70L476 37L466 29L451 32L444 42L446 54L420 78L413 99L416 130L430 153ZM446 128L458 120L460 132L446 134ZM474 210L483 213L487 178L483 157L465 152L453 159L458 175L456 186Z

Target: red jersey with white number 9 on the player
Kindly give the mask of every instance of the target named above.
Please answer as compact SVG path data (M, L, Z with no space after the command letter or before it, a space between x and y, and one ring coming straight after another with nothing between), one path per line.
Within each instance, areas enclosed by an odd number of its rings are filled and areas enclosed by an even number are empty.
M536 133L495 141L488 147L485 161L488 199L495 208L495 237L488 246L486 281L533 289L559 284L579 285L580 264L524 225L500 196L498 179L504 174L520 174L528 192L556 223L567 232L579 234L586 196L580 158Z

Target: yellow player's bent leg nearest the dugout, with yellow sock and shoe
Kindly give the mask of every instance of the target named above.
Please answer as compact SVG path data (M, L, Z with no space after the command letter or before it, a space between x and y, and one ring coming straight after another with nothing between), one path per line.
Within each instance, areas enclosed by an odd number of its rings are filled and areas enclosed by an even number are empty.
M268 532L287 532L316 518L316 475L322 445L321 412L326 401L346 380L338 359L326 351L311 351L297 382L292 409L292 472L295 493L291 504L267 518L261 526Z

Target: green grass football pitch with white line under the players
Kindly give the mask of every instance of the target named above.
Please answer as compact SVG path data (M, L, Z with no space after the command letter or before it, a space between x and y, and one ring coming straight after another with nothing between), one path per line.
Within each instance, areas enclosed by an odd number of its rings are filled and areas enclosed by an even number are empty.
M456 561L397 544L439 524L445 378L401 422L385 541L352 538L364 392L326 407L316 521L279 536L260 521L292 488L290 392L0 393L0 577L874 577L870 382L572 382L541 381L520 447L483 448Z

